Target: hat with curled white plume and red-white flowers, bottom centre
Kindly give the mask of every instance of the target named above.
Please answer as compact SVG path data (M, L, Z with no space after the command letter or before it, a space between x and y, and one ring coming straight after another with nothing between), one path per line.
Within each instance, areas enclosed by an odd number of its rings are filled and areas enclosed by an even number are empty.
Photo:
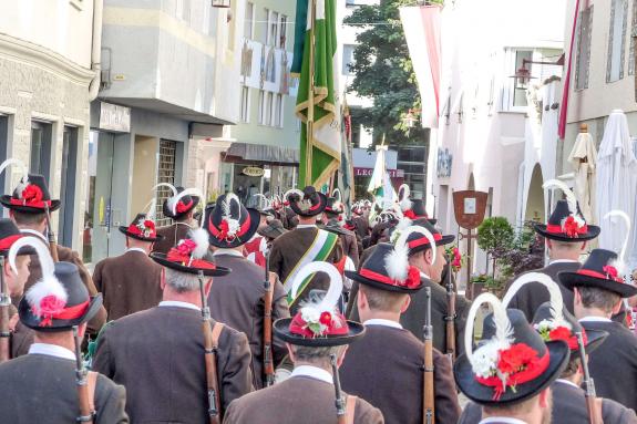
M327 293L321 299L301 302L295 317L275 321L276 335L290 344L311 348L349 344L362 337L364 327L359 322L348 321L338 310L342 277L333 265L317 261L301 268L292 281L291 296L296 297L304 281L316 272L323 272L329 277Z

